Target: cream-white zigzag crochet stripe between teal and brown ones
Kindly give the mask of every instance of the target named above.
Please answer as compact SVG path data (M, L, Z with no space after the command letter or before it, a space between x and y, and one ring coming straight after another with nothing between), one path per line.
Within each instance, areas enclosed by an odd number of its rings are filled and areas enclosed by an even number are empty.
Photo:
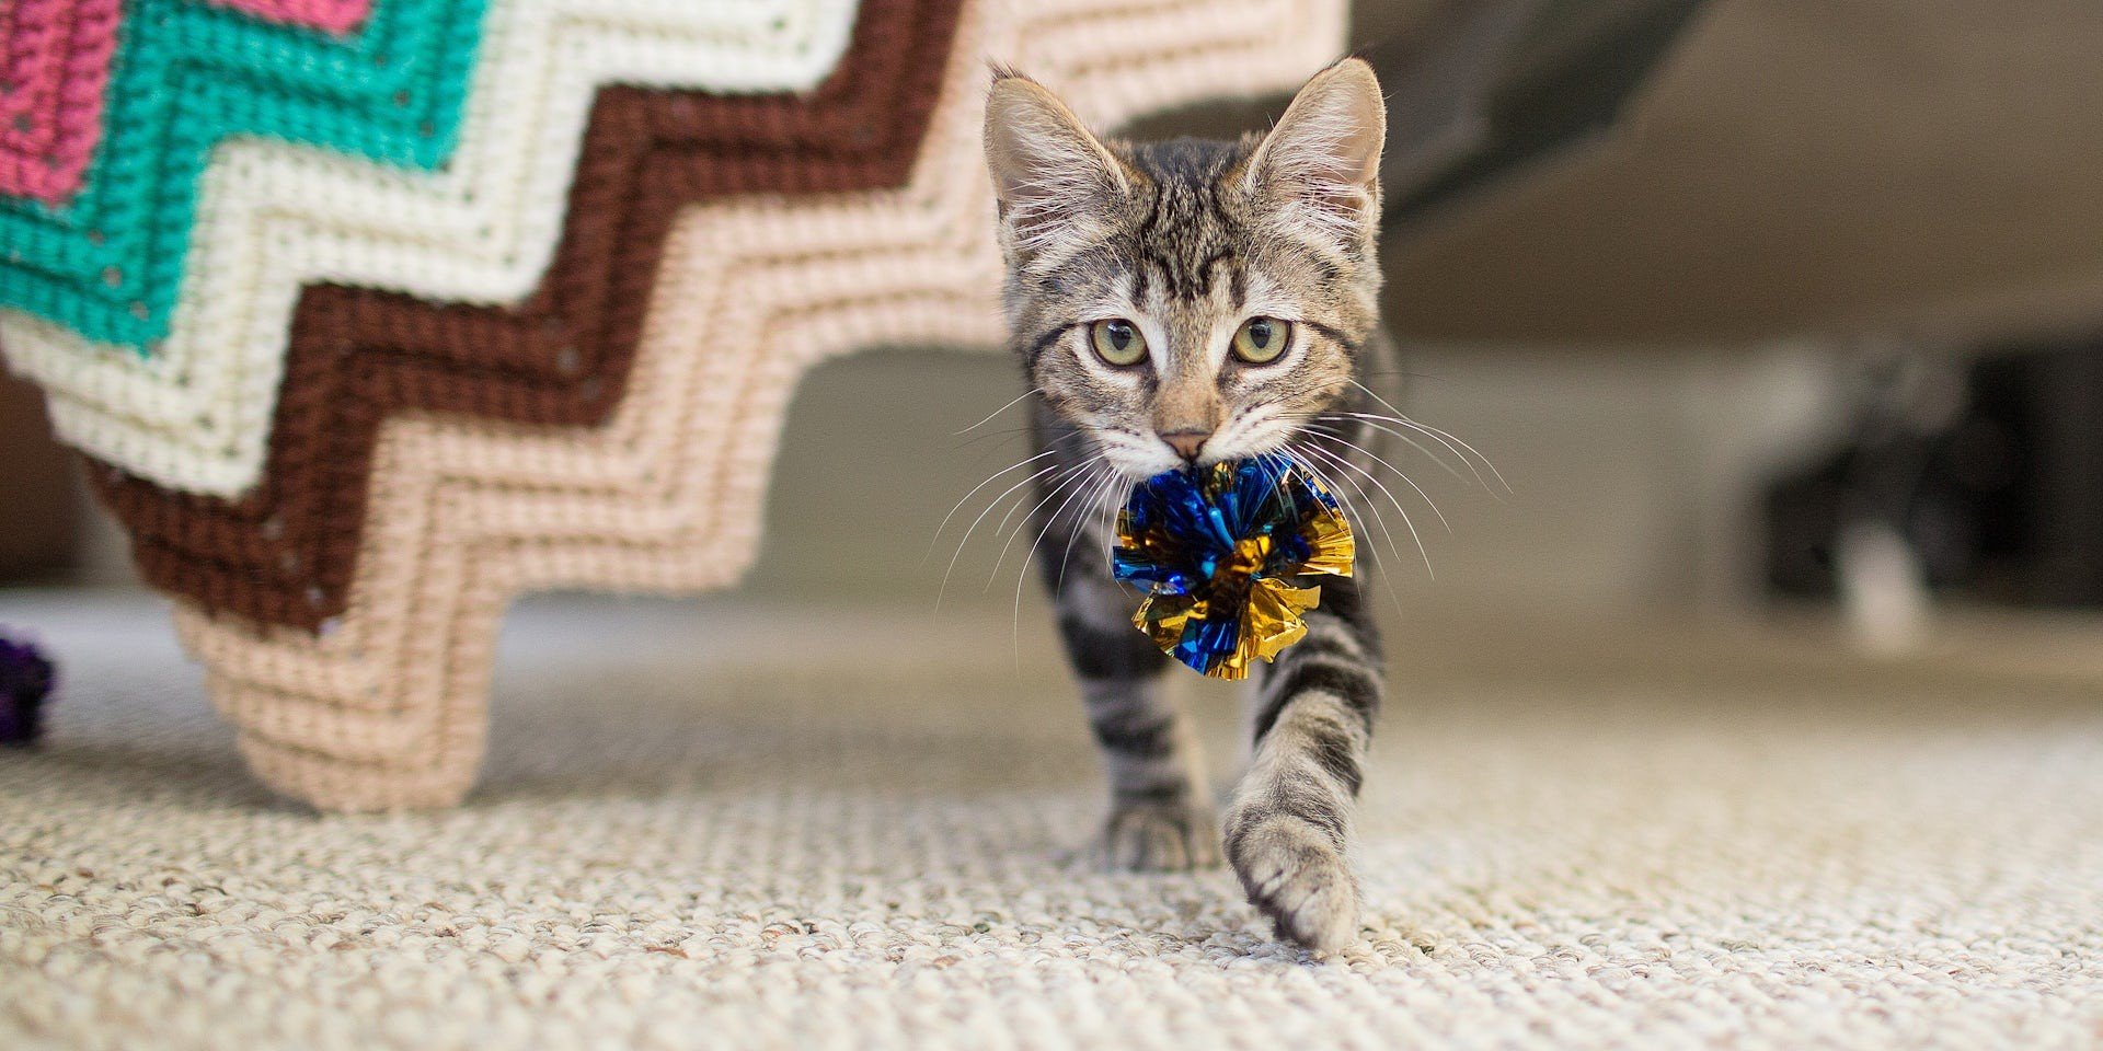
M599 84L803 90L852 17L854 0L492 0L444 170L221 145L151 357L27 317L0 315L0 336L69 444L166 488L240 494L263 471L303 284L515 303L547 269Z

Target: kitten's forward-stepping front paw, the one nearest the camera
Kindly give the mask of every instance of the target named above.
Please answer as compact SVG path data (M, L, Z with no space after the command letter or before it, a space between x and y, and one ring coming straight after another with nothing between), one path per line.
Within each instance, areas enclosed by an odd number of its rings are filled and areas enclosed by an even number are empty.
M1359 940L1359 881L1321 828L1289 813L1228 828L1226 858L1279 937L1321 954Z

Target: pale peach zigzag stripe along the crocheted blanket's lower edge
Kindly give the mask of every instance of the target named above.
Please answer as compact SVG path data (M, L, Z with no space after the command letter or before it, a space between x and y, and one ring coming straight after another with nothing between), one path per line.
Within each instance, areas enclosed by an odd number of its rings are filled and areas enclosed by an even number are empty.
M1110 124L1291 88L1335 55L1342 25L1342 0L974 4L902 187L820 181L818 193L677 217L627 395L604 427L391 418L334 631L179 612L257 771L324 807L456 801L479 761L490 645L511 595L728 584L753 555L803 370L871 343L995 343L999 261L978 160L986 57L1033 69ZM726 328L763 338L700 341Z

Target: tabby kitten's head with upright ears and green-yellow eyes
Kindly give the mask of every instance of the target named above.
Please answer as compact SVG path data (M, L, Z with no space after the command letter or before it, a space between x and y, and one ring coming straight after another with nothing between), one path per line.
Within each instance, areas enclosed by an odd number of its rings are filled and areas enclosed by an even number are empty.
M1138 479L1274 452L1346 397L1377 324L1384 130L1356 59L1239 143L1102 141L999 76L1007 322L1045 404Z

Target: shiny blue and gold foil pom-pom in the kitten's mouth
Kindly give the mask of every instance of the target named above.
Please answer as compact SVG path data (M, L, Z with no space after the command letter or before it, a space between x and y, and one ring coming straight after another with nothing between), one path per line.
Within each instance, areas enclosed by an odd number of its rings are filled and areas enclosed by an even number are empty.
M1350 576L1350 521L1298 462L1255 456L1155 475L1117 515L1112 574L1146 586L1131 622L1171 658L1243 679L1306 637L1321 586Z

